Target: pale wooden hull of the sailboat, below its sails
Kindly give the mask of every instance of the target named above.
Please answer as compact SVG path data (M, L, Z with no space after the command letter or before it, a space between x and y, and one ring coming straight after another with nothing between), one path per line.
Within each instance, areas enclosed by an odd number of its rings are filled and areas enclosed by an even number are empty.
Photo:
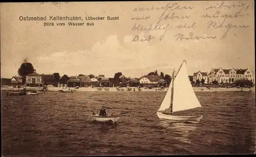
M157 117L159 119L173 120L173 121L187 121L187 122L199 122L203 116L173 116L166 115L157 112Z

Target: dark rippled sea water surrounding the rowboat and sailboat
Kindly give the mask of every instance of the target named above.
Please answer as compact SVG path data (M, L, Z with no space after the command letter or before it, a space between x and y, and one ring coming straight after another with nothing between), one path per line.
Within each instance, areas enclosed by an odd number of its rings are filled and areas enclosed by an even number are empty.
M163 92L2 94L3 156L246 154L255 152L254 92L196 92L199 123L159 120ZM121 115L117 125L82 114Z

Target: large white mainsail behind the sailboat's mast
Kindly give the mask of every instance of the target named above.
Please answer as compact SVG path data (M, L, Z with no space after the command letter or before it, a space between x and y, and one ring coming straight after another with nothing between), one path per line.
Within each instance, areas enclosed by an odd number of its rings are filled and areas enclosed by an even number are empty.
M185 61L174 79L173 112L201 107L187 75Z

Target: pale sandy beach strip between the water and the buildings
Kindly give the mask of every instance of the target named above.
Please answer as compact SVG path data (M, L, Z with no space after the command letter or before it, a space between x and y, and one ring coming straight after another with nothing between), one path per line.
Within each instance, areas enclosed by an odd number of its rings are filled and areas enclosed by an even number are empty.
M78 89L75 88L63 88L63 87L48 87L48 90L46 92L61 92L64 91L65 93L69 93L69 89L74 91L74 92L166 92L167 91L167 87L159 90L159 88L152 88L152 89L145 89L145 88L141 88L141 91L138 90L137 87L130 87L132 88L131 91L127 91L127 87L123 87L124 91L117 91L116 87L108 87L109 91L105 91L104 87L102 88L101 91L99 91L97 89L97 87L92 88L92 87L81 87ZM23 88L8 88L8 87L2 87L1 91L8 91L8 90L21 90ZM38 90L38 87L27 87L27 89L31 89L31 90ZM135 89L135 91L134 91ZM243 92L255 92L255 87L251 87L251 88L246 88L246 87L242 87L241 88L222 88L222 87L218 87L218 88L210 88L207 89L206 87L193 87L194 92L239 92L239 91L243 91ZM71 93L71 92L70 92Z

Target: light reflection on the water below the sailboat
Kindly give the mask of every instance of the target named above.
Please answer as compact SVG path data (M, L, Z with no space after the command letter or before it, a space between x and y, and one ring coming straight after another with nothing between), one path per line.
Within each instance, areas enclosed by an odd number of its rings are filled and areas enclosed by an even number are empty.
M193 134L197 129L197 123L190 122L175 122L170 120L160 120L159 124L163 129L175 134L175 140L183 143L191 143L189 134ZM166 133L167 134L167 133Z

